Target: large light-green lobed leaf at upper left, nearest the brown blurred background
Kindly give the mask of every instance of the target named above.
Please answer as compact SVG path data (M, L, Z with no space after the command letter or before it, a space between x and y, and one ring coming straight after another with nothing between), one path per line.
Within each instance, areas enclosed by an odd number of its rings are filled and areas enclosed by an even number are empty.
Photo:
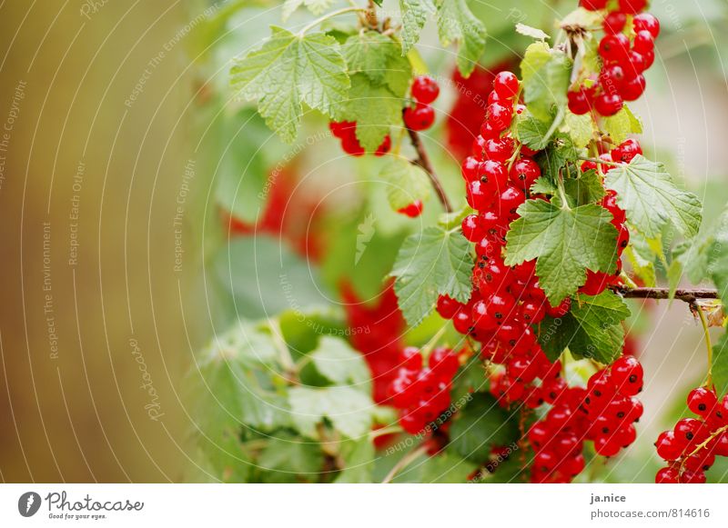
M271 26L270 38L238 58L230 70L238 97L258 99L258 112L280 137L292 143L302 103L334 117L349 89L346 62L335 38L323 33L295 35Z

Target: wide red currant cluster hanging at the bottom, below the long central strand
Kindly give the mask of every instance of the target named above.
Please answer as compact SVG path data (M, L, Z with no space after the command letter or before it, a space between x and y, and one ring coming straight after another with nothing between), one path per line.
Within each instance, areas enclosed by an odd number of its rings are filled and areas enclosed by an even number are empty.
M642 403L634 397L642 390L642 365L632 356L593 374L586 389L557 380L544 391L549 413L528 432L534 483L571 482L584 469L585 440L602 456L619 453L634 442L633 423L642 416Z

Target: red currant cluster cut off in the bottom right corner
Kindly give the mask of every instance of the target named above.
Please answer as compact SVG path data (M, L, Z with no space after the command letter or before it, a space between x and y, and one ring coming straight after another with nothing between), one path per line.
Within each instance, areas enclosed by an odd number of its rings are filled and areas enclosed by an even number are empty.
M728 394L719 400L704 387L688 394L688 408L699 418L683 418L657 438L657 454L667 461L656 483L705 483L716 456L728 456Z

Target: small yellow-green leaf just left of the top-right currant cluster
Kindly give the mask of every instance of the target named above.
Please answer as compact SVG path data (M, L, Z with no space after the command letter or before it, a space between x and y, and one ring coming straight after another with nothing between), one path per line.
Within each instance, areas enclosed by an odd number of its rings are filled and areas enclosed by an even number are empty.
M541 55L536 55L534 59L540 61ZM533 64L539 63L529 62L527 69L530 72ZM555 115L554 107L558 110L566 107L572 64L570 57L561 51L551 50L545 63L527 77L524 76L523 99L531 114L541 121L551 120L551 116Z

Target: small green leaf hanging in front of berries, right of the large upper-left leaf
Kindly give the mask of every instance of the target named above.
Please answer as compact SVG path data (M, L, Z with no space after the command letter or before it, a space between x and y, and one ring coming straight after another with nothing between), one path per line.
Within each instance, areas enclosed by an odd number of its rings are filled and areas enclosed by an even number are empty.
M372 85L364 74L351 76L348 99L340 105L341 115L357 122L357 138L374 152L392 125L402 124L402 99L385 85Z

